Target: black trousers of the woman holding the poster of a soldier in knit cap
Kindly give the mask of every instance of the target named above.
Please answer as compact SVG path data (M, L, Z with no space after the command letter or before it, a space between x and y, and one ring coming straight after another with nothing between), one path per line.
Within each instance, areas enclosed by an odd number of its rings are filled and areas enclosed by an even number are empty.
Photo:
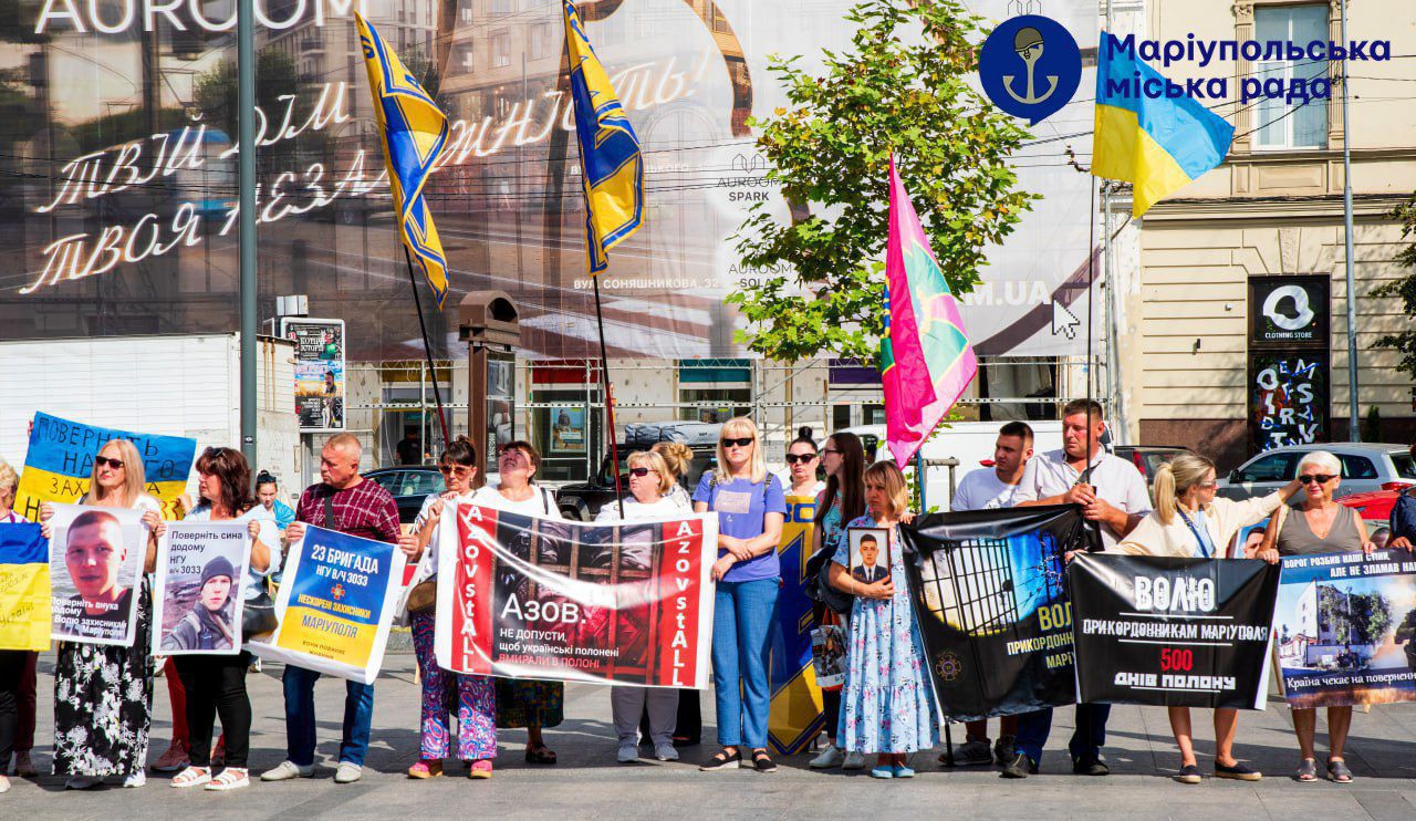
M211 766L211 732L221 716L227 736L227 766L246 766L251 753L251 699L246 668L251 654L177 655L177 675L187 691L187 735L194 767Z

